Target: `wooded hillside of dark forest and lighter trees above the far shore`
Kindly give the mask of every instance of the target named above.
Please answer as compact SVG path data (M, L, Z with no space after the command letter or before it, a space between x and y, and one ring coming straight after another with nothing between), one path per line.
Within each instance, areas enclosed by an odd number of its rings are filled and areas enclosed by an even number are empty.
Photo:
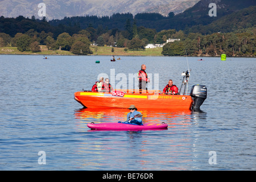
M184 14L189 11L192 13L195 10L187 10ZM204 24L188 22L184 16L175 16L173 13L169 13L168 17L157 13L139 13L135 16L125 13L100 18L76 16L52 21L46 18L1 16L0 47L15 46L20 51L37 52L40 51L39 45L46 45L48 49L86 55L92 53L90 44L144 49L148 43L164 44L167 39L174 38L180 41L165 44L163 55L182 56L187 50L191 56L218 56L221 53L228 56L255 56L255 13L256 6L241 10L233 8L228 15ZM171 21L179 17L183 19L183 28ZM168 28L167 24L167 28L160 26L163 22L175 24L177 28Z

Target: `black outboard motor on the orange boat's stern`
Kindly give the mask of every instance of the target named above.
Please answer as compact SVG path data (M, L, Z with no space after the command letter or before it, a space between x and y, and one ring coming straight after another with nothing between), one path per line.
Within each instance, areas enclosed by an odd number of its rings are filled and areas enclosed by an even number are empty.
M207 98L207 88L205 85L193 85L191 88L190 96L193 99L192 110L200 110L200 106Z

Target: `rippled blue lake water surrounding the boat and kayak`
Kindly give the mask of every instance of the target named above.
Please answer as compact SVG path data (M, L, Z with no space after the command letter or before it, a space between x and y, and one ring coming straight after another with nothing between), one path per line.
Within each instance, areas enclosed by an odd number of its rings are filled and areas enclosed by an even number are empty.
M256 169L255 58L48 57L0 55L0 170ZM139 110L167 130L89 130L90 122L125 121L129 110L82 109L73 93L90 90L100 73L117 85L118 74L128 78L141 64L160 90L170 78L180 88L189 66L189 92L208 89L202 112Z

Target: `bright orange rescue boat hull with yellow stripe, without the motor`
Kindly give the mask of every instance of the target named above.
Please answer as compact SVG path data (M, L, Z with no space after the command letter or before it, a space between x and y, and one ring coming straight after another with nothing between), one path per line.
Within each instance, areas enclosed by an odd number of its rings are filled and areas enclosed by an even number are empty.
M125 93L120 97L112 93L76 92L74 98L88 108L128 108L135 105L137 109L191 110L193 104L191 96L154 93Z

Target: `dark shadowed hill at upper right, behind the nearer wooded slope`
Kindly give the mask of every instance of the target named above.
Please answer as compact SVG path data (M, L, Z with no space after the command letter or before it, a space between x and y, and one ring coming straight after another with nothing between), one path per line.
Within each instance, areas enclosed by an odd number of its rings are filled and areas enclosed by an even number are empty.
M211 9L209 7L209 3L216 3L217 16L209 16L209 10ZM217 22L217 20L222 19L224 16L230 14L236 15L236 12L250 6L256 6L256 1L201 0L193 7L171 18L159 19L157 21L138 19L137 26L155 28L157 31L168 29L188 30L188 28L193 26L206 26L212 22ZM252 15L253 14L250 12L249 16ZM246 16L246 14L242 14L242 16ZM250 21L246 18L245 20Z

